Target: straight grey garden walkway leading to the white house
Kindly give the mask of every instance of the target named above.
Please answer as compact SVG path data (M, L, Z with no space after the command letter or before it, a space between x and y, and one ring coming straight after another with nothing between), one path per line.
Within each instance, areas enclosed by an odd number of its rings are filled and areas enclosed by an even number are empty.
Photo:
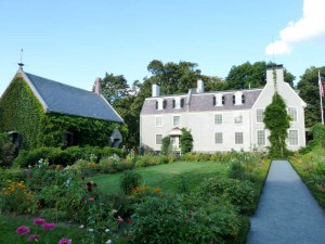
M325 214L287 160L274 160L248 244L325 244Z

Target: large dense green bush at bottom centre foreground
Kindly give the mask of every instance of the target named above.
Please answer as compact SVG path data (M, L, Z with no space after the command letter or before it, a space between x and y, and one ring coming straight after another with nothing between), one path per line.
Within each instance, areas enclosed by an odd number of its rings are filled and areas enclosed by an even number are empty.
M240 244L249 229L248 218L227 202L182 195L148 197L134 219L130 243Z

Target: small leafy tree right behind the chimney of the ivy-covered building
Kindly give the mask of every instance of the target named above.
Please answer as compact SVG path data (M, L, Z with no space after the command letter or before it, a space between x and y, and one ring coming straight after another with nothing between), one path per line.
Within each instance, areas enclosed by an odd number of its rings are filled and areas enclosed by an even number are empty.
M115 76L106 73L102 80L102 93L109 104L115 105L115 102L129 94L127 79L122 75Z

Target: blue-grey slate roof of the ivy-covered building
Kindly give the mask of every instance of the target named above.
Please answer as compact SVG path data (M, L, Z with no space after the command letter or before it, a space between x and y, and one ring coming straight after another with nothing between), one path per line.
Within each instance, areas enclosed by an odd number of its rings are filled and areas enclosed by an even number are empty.
M60 113L108 121L123 123L104 97L94 92L67 86L32 74L23 75L31 90L42 103L46 113Z

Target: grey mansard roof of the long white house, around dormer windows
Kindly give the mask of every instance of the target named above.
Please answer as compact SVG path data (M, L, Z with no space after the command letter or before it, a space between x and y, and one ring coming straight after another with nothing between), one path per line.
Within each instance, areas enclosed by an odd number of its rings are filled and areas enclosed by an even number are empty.
M233 104L233 94L240 91L245 95L245 103L242 105ZM204 92L191 95L190 104L186 104L187 95L165 95L157 98L147 98L142 106L141 114L166 114L166 113L185 113L185 112L199 112L199 111L230 111L230 110L247 110L250 108L258 97L260 95L262 89L251 89L251 90L237 90L237 91L214 91L214 92ZM224 105L214 106L213 97L217 93L222 93L224 95ZM173 108L172 100L177 97L182 97L185 99L184 106L182 108ZM164 99L167 101L165 110L156 110L156 101L158 99Z

